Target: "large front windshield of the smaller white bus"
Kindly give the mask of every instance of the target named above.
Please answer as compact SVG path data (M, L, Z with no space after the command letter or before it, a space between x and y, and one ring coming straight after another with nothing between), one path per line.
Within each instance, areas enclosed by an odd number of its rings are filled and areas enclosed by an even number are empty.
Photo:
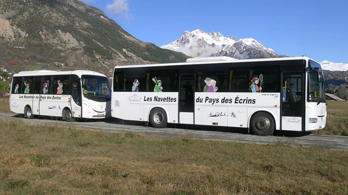
M111 100L109 80L102 76L82 75L82 94L90 100L107 102Z

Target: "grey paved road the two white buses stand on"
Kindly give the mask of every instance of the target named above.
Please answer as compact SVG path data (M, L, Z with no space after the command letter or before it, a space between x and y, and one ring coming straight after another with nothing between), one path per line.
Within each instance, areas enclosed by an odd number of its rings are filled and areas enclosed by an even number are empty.
M115 133L120 130L125 132L130 131L135 134L144 133L149 136L159 137L177 137L185 134L189 134L192 138L206 139L206 140L221 140L221 141L236 141L240 143L256 143L256 144L269 144L280 142L290 145L301 145L304 147L318 146L336 150L348 150L348 136L330 136L330 135L314 135L314 134L293 134L289 132L277 133L274 136L261 137L256 135L246 134L246 130L233 130L230 128L215 128L205 127L209 130L187 129L186 126L176 128L162 128L156 129L153 127L146 127L143 123L126 124L123 121L117 120L105 120L101 122L90 121L78 121L78 122L65 122L59 120L47 120L47 119L25 119L18 118L19 115L13 113L0 112L0 118L17 118L17 120L23 120L29 124L59 124L60 126L69 126L71 124L77 127L89 128L91 130L103 130L104 132ZM123 124L123 125L122 125ZM213 129L213 130L212 130Z

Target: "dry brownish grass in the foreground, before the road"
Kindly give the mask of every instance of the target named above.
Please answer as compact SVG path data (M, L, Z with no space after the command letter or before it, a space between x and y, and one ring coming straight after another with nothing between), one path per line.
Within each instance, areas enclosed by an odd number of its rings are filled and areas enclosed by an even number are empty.
M348 152L0 120L0 194L347 194Z

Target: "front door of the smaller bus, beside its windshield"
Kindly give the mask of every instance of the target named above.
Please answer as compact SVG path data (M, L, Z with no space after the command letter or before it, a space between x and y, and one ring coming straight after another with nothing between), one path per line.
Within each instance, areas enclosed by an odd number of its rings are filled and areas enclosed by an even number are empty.
M71 75L71 112L73 117L82 117L82 91L81 91L81 80L77 75Z

